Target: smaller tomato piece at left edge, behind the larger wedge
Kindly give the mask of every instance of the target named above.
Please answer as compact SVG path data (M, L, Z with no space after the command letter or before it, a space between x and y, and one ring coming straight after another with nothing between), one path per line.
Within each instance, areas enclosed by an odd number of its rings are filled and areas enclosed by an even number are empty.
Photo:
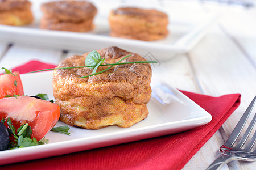
M13 74L0 75L0 98L5 97L6 95L24 95L19 72L14 71Z

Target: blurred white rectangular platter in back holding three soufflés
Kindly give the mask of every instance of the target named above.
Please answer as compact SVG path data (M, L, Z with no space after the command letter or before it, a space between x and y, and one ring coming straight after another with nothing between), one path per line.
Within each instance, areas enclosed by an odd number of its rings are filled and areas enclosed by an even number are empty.
M170 24L168 25L168 30L170 34L166 39L147 42L109 36L108 15L110 10L120 6L128 6L116 3L119 1L112 1L112 3L109 3L109 1L93 1L98 9L98 14L94 18L96 28L86 33L40 29L39 22L42 17L40 5L47 1L31 2L32 11L35 16L34 22L23 27L0 25L0 42L38 45L45 48L77 50L81 52L100 50L108 46L118 46L119 48L138 53L142 57L151 53L159 60L166 60L176 54L187 53L194 48L208 31L208 28L218 18L216 14L205 13L198 9L193 10L190 4L183 5L179 10L174 10L175 7L160 8L169 16ZM137 5L137 7L143 8L144 6ZM180 6L177 5L177 7Z

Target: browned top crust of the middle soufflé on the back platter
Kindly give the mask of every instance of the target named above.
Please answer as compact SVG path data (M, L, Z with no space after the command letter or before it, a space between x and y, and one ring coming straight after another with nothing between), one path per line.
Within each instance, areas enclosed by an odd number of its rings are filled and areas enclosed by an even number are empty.
M56 1L41 6L44 16L55 18L61 22L83 22L92 19L97 9L87 1Z

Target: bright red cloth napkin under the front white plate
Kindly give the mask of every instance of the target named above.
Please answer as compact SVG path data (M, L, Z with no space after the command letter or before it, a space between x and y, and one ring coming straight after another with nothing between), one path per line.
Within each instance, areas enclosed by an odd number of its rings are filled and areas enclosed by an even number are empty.
M26 73L48 66L31 61L13 70ZM241 98L240 94L211 97L181 92L212 114L212 121L183 133L3 165L0 169L181 169L238 107Z

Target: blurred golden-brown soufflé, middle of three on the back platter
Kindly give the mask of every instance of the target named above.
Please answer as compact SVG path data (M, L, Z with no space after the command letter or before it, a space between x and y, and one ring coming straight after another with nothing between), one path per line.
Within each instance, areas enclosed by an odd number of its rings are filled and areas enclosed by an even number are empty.
M54 1L41 6L41 29L86 32L94 28L97 9L87 1Z

